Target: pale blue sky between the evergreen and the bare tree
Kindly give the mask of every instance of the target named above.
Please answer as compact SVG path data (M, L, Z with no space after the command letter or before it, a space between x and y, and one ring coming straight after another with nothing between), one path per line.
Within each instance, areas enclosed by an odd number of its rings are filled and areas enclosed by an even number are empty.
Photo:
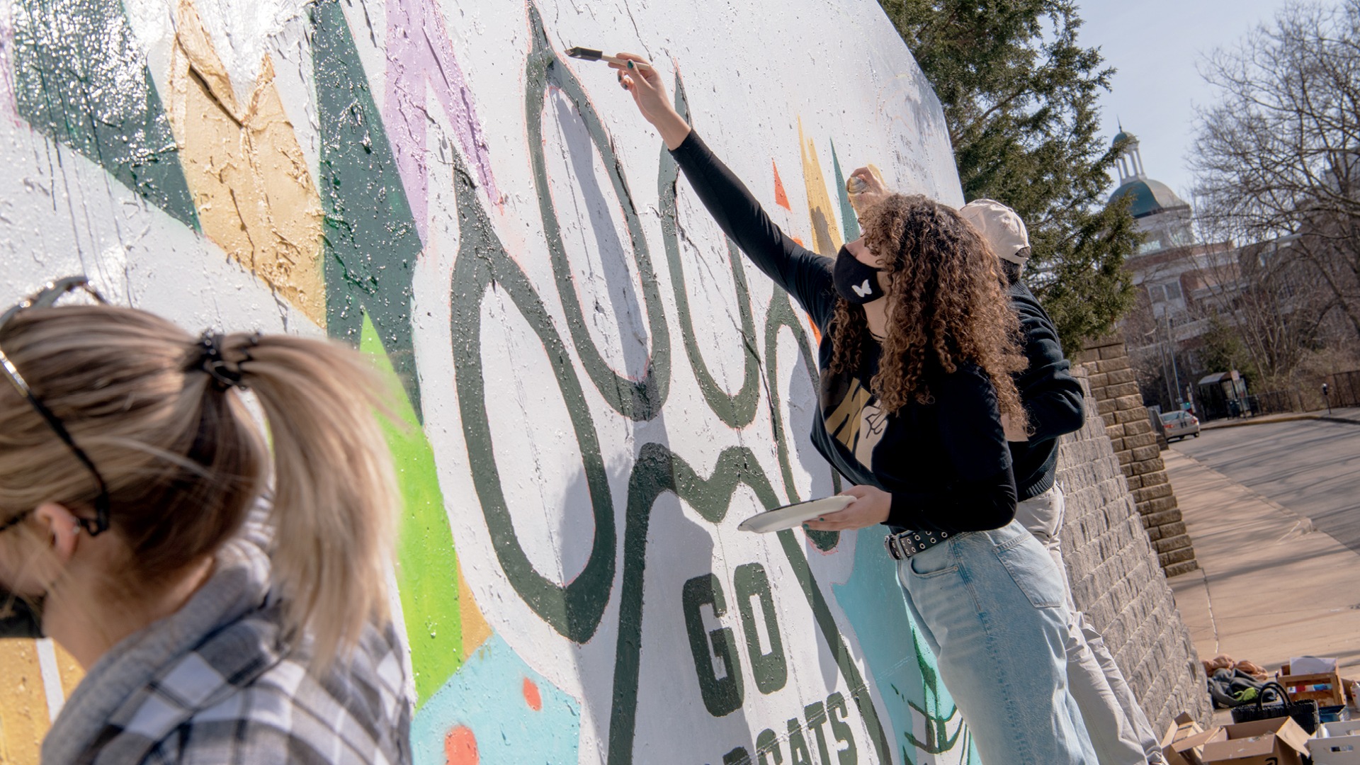
M1231 48L1282 5L1284 0L1081 3L1085 23L1077 39L1099 46L1106 64L1118 69L1100 98L1106 136L1112 140L1119 132L1115 120L1122 120L1138 136L1148 176L1189 199L1194 108L1217 97L1197 64L1214 48Z

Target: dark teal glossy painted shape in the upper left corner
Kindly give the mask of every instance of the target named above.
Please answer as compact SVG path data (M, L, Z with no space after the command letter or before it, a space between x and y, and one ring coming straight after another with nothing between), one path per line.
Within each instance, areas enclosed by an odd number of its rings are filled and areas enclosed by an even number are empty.
M197 230L174 133L122 3L15 0L11 8L19 116Z

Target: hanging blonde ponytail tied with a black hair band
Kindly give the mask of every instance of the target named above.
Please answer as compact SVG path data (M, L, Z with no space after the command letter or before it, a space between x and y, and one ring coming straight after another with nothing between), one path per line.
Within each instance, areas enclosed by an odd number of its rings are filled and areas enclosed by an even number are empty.
M273 579L287 621L325 666L388 617L397 487L375 408L386 392L355 351L288 335L228 335L273 452Z

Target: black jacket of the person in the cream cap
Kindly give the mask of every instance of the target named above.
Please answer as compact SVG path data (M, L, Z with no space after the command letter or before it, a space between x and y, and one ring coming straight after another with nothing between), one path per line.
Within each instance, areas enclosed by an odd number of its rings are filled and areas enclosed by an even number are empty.
M1081 384L1062 355L1053 320L1024 282L1010 284L1010 308L1020 316L1024 355L1030 366L1015 376L1020 402L1030 417L1030 440L1010 444L1020 500L1043 494L1053 486L1058 466L1058 436L1081 429L1085 422Z

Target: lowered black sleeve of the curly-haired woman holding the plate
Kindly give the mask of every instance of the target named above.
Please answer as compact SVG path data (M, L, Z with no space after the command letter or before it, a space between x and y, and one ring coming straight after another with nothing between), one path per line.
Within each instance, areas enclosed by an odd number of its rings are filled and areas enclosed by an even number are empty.
M960 534L1001 528L1016 515L1010 451L997 393L986 373L966 366L933 384L944 456L956 478L892 491L888 525Z

